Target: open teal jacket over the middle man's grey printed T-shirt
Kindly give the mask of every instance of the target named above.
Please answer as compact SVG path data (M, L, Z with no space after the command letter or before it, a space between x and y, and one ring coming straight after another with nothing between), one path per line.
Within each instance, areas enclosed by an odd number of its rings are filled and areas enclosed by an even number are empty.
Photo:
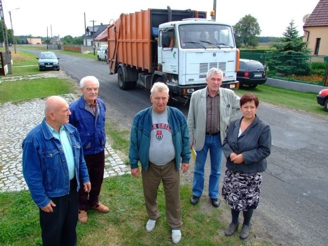
M144 109L136 114L130 135L129 160L131 168L141 167L148 171L149 145L152 131L152 109ZM186 117L176 108L167 106L169 125L172 129L172 138L175 150L176 168L180 168L180 162L189 163L191 158L189 131Z

